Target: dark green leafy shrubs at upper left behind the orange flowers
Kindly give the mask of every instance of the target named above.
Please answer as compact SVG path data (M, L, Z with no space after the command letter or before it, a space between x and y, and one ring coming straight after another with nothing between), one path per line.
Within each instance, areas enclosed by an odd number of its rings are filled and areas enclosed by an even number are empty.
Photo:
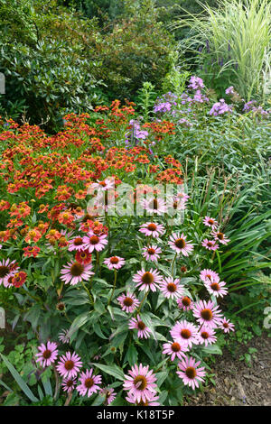
M68 112L89 112L108 98L135 96L144 81L162 86L173 37L157 22L153 2L140 8L126 5L125 18L106 33L100 32L96 18L55 1L17 4L0 2L0 15L5 16L0 72L6 82L1 115L24 115L51 131L61 127Z

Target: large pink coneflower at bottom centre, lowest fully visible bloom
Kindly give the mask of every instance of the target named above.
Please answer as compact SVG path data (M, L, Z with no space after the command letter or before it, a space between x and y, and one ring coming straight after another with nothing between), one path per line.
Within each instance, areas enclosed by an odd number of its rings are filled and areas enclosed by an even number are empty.
M128 396L137 402L150 401L153 399L156 392L156 377L153 370L149 370L149 366L135 364L132 369L125 375L125 382L123 384L124 390L128 391Z

